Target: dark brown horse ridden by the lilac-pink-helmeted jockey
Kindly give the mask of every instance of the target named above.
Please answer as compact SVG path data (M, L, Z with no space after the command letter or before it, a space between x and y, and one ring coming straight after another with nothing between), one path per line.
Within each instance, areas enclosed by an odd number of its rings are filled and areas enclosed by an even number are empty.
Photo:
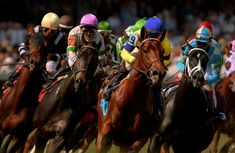
M98 86L94 79L97 65L97 49L84 45L79 49L72 69L42 92L33 119L37 128L35 152L43 152L48 140L53 138L56 139L52 141L52 147L46 147L48 152L58 152L63 147L71 150L74 144L82 142L87 130L96 129L96 111L92 108L97 101Z

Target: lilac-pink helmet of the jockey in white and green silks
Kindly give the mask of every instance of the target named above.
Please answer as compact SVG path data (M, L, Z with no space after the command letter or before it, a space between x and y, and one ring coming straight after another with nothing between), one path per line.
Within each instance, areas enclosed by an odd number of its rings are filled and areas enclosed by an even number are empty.
M84 15L80 21L81 26L98 27L98 19L94 14L88 13Z

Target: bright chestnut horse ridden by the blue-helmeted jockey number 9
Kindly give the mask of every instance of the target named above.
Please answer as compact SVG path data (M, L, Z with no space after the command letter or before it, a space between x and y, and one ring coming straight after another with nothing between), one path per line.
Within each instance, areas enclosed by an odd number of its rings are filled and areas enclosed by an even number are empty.
M97 153L108 152L112 143L119 146L121 152L139 152L152 134L151 85L158 87L157 92L160 93L161 81L166 73L164 49L160 43L164 36L163 33L158 38L147 38L141 43L129 75L120 82L106 103L107 112L102 106L103 89L100 90Z

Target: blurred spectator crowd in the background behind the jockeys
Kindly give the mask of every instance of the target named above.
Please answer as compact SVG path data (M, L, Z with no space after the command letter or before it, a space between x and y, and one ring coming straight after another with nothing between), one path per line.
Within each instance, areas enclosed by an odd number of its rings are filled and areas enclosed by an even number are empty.
M213 24L214 37L223 42L223 47L235 38L235 0L1 0L0 5L7 7L12 2L14 11L0 11L0 79L6 79L19 62L17 48L24 41L28 26L39 24L50 11L60 16L69 14L77 24L85 13L92 12L100 21L109 21L118 37L137 19L156 15L166 24L173 60L202 20Z

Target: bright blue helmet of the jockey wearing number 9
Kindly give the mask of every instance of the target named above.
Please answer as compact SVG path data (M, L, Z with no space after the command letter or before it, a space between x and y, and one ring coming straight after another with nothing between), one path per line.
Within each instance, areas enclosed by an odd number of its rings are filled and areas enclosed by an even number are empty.
M165 29L165 24L161 19L154 16L146 21L144 27L150 33L162 33Z

